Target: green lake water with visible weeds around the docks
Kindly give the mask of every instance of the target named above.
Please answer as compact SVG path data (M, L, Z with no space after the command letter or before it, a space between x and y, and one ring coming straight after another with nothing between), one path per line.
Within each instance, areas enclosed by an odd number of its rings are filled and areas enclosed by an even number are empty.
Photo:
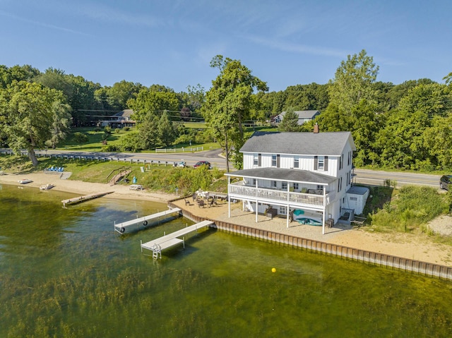
M452 283L215 229L154 261L166 205L0 186L0 337L451 337ZM275 267L276 272L272 272Z

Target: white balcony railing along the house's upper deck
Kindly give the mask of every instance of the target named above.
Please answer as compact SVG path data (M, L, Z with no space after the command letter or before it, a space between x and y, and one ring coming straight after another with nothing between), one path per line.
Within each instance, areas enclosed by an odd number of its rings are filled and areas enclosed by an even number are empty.
M254 188L234 183L228 186L228 192L231 198L257 199L260 202L268 203L290 203L300 207L323 208L330 200L334 199L334 193L328 193L325 196L312 193L296 193L292 191L280 191L275 189Z

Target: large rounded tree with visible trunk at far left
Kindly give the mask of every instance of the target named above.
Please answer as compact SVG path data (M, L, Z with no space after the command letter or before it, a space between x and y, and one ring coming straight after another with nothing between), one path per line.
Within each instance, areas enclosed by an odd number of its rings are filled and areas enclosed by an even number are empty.
M33 166L37 166L35 149L44 147L52 138L55 114L61 108L64 95L38 83L13 83L0 96L0 128L7 136L8 145L16 152L28 150Z

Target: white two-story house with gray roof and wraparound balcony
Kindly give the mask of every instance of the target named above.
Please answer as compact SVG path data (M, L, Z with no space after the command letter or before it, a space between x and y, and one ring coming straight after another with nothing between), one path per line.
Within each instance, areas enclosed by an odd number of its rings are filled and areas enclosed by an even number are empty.
M229 200L244 210L337 222L347 206L356 150L350 132L255 132L243 145L244 169L227 173ZM238 181L237 181L238 179ZM230 210L230 205L229 205Z

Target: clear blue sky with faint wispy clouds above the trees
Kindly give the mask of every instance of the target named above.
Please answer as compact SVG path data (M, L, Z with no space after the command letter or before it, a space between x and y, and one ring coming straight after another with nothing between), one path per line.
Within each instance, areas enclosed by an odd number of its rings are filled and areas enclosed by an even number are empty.
M239 59L270 91L327 83L366 49L377 80L452 72L452 1L0 0L0 64L59 68L100 85L186 91Z

